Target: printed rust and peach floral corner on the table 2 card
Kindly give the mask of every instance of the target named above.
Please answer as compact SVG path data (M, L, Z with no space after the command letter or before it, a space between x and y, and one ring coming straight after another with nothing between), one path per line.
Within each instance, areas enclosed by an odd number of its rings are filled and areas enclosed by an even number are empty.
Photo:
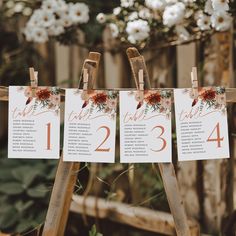
M80 94L84 100L82 109L91 104L90 114L94 111L102 112L109 114L111 119L115 119L119 94L117 91L77 90L76 94Z

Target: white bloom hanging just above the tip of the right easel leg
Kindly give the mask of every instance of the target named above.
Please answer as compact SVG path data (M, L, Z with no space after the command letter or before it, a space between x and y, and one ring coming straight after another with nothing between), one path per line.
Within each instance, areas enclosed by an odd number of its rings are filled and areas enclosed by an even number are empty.
M149 37L150 26L145 20L130 21L127 24L126 32L130 43L143 41Z

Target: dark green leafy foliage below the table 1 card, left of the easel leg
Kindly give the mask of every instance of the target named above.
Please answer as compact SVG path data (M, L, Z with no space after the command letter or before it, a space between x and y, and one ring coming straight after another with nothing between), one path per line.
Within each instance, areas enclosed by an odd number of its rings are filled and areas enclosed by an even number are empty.
M11 160L0 153L0 231L22 233L45 220L56 161Z

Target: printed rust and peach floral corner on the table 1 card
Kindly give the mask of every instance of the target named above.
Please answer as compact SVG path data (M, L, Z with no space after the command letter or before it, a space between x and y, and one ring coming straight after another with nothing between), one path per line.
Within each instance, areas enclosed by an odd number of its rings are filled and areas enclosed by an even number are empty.
M56 87L37 87L35 88L35 97L33 96L32 87L19 87L18 92L24 92L26 97L25 105L31 104L34 101L34 109L38 106L46 108L59 115L60 110L60 92Z

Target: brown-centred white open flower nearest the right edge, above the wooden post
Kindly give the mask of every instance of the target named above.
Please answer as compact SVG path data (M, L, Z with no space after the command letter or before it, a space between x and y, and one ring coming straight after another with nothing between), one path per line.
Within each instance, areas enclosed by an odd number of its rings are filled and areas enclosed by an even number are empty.
M226 31L230 28L232 17L224 11L215 12L211 16L211 25L217 31Z

